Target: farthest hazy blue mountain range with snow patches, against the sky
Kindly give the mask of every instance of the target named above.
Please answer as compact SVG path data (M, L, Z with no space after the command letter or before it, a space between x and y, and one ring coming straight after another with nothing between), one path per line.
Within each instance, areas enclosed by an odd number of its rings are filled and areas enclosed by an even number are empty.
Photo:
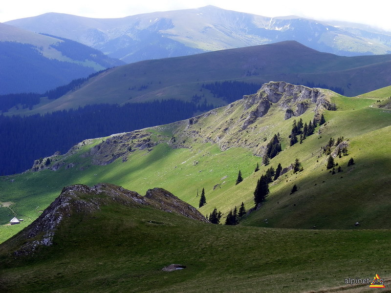
M391 33L363 24L269 18L215 6L119 19L46 13L6 23L81 42L126 63L291 40L345 56L391 52Z

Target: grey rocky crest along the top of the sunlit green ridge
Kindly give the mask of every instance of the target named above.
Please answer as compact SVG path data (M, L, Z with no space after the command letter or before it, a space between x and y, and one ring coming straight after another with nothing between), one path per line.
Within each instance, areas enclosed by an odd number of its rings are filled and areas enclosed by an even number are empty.
M254 155L262 156L266 142L260 144L255 136L253 139L247 139L248 135L243 135L244 132L255 132L259 136L270 135L269 126L258 126L258 122L272 108L284 111L282 117L284 120L298 117L309 110L313 111L315 116L320 117L324 109L333 108L329 96L328 91L320 88L286 82L269 82L263 84L255 94L243 96L241 100L227 106L183 121L113 134L107 138L85 140L73 146L64 156L54 154L48 157L51 164L47 166L45 165L47 158L37 160L32 170L49 168L55 171L63 166L65 168L79 167L74 163L65 163L67 157L78 152L81 157L90 158L92 165L108 165L118 158L126 162L131 158L132 152L136 150L149 152L160 143L166 143L172 148L190 148L193 142L212 143L217 144L223 151L230 147L245 147L252 149ZM235 119L229 119L230 116ZM205 122L208 120L212 120L213 124L207 126ZM167 129L169 131L166 131ZM170 131L173 131L172 137L159 134ZM96 143L97 141L99 143ZM89 144L94 145L86 151L86 146ZM89 166L79 168L87 167Z

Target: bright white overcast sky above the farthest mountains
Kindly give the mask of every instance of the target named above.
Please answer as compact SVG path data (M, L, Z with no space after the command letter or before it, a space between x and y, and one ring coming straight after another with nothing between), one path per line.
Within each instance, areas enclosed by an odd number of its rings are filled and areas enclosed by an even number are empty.
M383 0L382 2L387 3ZM0 5L0 22L46 12L68 13L92 18L119 18L140 13L197 8L206 5L268 17L297 15L320 21L358 22L391 31L388 4L381 4L380 0L366 2L357 0L109 0L104 2L97 0L4 0Z

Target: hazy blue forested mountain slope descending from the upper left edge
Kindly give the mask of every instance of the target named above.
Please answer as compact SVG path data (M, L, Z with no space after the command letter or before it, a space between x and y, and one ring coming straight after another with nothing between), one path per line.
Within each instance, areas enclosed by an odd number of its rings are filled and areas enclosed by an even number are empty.
M123 64L84 44L0 23L0 94L44 92Z

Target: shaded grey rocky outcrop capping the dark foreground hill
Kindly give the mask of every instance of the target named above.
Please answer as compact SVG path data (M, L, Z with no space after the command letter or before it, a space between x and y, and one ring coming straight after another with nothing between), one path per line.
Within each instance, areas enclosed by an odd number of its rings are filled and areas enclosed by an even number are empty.
M101 183L94 187L78 184L63 188L61 194L38 219L16 235L23 244L15 250L14 254L28 255L42 246L52 245L56 230L66 218L75 213L91 214L110 203L130 208L148 205L198 221L209 222L197 209L163 188L149 189L146 196L141 196L135 191L108 183Z

